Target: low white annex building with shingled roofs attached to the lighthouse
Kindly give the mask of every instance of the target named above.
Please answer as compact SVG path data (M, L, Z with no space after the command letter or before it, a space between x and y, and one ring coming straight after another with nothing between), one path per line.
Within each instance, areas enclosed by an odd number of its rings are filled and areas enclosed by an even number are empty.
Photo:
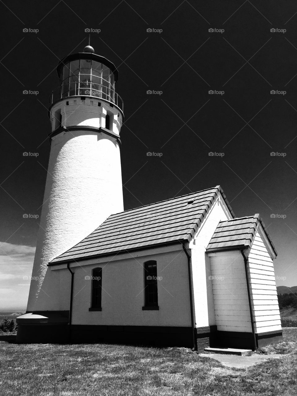
M280 342L276 255L261 216L236 218L220 186L122 211L49 262L51 301L20 317L18 337L198 350Z

